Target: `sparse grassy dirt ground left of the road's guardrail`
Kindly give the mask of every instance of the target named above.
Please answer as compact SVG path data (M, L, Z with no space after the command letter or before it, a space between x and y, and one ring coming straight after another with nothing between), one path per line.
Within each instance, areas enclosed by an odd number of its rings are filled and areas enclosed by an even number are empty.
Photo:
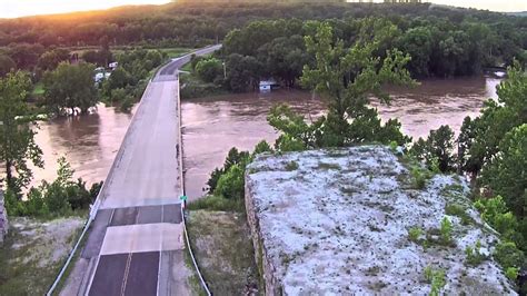
M83 219L11 220L0 248L0 295L43 295L68 256Z

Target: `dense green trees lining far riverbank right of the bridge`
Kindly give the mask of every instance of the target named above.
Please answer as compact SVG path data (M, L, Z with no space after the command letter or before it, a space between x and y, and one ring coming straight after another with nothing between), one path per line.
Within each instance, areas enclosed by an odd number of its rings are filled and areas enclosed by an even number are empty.
M332 19L329 22L335 30L334 39L346 46L354 43L360 30L371 26L371 19L396 28L379 41L382 43L376 53L384 58L386 49L395 48L410 55L408 69L416 78L470 76L480 73L484 67L510 65L515 58L521 63L527 61L527 43L519 36L508 36L509 39L500 36L496 27L468 19L459 23L434 17ZM222 49L226 87L243 91L256 88L259 78L271 77L282 86L294 87L304 66L314 62L304 38L312 36L318 23L299 19L262 20L230 31ZM370 27L368 33L376 30Z

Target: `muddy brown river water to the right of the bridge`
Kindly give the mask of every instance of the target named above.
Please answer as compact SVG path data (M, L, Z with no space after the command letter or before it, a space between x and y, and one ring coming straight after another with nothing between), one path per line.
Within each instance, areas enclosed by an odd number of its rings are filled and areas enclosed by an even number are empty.
M414 138L430 129L450 125L459 130L466 116L477 116L487 98L496 98L498 79L467 78L426 80L415 89L392 88L390 106L374 101L384 120L398 118L402 130ZM277 137L267 125L267 114L275 103L286 102L315 118L324 103L301 91L268 95L241 93L182 102L183 145L187 194L202 195L210 171L222 165L227 151L236 146L250 150L261 139L272 144Z

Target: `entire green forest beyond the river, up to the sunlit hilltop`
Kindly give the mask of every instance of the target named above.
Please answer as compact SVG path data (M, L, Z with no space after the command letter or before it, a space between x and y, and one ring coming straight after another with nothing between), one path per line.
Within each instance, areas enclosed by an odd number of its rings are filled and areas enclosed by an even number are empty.
M105 67L109 61L123 59L125 53L116 55L116 50L192 48L222 42L223 50L216 59L200 67L201 73L207 72L199 76L205 83L188 83L183 97L218 90L250 91L258 88L261 79L268 78L286 88L299 87L302 67L314 62L314 57L306 52L304 38L312 36L320 21L330 22L335 38L349 46L375 19L394 26L390 36L379 41L382 45L376 53L382 58L385 49L397 48L410 55L407 67L414 78L479 75L485 67L507 67L514 59L520 63L527 61L526 18L497 12L429 3L232 2L209 6L183 1L0 20L0 76L11 69L27 70L32 72L34 83L46 82L44 72L78 58L95 67ZM378 28L369 30L374 33ZM141 92L141 86L136 89L138 81L146 78L139 68L146 68L148 73L166 58L159 61L159 56L152 55L132 53L145 67L136 62L133 69L127 67L125 73L119 73L121 81L102 86L102 100L123 101L122 109L128 109ZM89 72L89 67L84 68ZM110 96L110 85L126 92L118 90L115 99ZM77 106L83 110L96 102L83 101ZM46 103L57 109L56 102ZM62 105L59 107L71 107L71 103Z

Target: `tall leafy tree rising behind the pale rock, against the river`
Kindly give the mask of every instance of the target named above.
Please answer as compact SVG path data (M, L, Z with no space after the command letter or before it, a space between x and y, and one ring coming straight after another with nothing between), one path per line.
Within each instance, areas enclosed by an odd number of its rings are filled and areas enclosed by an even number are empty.
M315 148L368 141L401 145L409 140L400 132L397 120L381 125L377 110L368 103L371 96L389 103L389 95L382 90L386 85L414 83L405 69L410 57L397 49L387 50L384 59L377 57L376 52L397 28L376 19L365 21L368 26L362 26L365 29L349 49L342 40L334 39L328 23L320 23L315 36L306 37L315 66L305 66L301 82L328 102L328 115L309 126L287 107L274 108L268 121L284 134L277 148L298 150L300 145ZM376 30L368 30L371 26Z

